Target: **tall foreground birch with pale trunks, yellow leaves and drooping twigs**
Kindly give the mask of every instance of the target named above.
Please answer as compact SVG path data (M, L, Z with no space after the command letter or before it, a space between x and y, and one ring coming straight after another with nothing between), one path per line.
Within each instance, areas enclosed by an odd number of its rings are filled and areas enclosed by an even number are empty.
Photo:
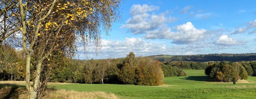
M119 18L120 1L114 0L19 0L22 47L26 53L26 87L31 99L40 90L42 64L51 60L53 51L68 51L72 56L75 41L82 39L100 46L100 27L108 34L111 23ZM57 4L58 3L58 4ZM60 20L61 19L61 20ZM41 36L40 36L41 35ZM76 37L77 36L77 37ZM62 49L62 50L61 50ZM97 51L97 49L96 49ZM35 58L35 79L30 85L30 59Z

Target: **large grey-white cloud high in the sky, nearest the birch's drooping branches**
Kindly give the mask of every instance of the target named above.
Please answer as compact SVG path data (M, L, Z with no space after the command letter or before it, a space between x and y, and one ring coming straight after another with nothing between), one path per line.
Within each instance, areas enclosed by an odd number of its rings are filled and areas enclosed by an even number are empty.
M133 34L146 33L147 31L157 29L166 22L173 22L176 20L175 17L166 16L165 13L159 15L149 14L148 12L158 10L157 6L144 5L133 5L130 10L132 18L126 21L126 24L120 28L127 28L128 32Z

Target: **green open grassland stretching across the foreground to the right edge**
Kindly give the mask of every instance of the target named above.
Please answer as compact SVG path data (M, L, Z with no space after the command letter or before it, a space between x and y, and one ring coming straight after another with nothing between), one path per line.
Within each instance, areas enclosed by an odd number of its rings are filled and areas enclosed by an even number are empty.
M121 99L256 99L256 77L247 81L231 83L213 82L204 75L204 70L184 70L185 77L166 77L159 86L122 84L50 84L58 90L74 92L105 92ZM21 84L22 85L22 84ZM0 87L3 84L0 84Z

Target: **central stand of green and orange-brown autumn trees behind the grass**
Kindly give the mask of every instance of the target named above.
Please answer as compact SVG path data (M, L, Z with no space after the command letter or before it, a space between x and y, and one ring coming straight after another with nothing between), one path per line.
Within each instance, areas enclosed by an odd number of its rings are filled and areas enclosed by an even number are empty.
M160 63L130 52L124 59L90 59L78 68L75 82L135 85L163 84Z

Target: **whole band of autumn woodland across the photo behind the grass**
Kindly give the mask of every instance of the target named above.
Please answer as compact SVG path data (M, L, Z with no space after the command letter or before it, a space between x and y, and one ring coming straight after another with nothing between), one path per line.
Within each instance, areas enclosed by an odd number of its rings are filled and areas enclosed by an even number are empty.
M1 80L24 81L24 52L8 46L3 46L2 50L5 55L1 57ZM135 57L133 52L122 59L75 60L55 54L58 57L53 54L43 69L46 76L42 78L49 77L49 82L159 85L163 83L163 77L186 76L184 69L205 70L212 79L225 82L233 77L246 79L247 76L256 76L256 61L159 62L149 57ZM230 72L234 73L231 75L235 76L225 78L227 68L231 68Z

